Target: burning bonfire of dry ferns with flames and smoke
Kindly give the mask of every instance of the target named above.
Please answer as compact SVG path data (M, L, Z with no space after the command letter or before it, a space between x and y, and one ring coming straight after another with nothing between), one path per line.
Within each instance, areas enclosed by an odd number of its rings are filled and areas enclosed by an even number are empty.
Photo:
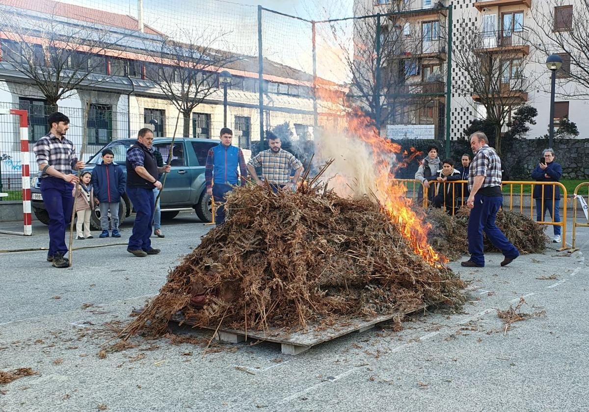
M348 124L347 135L319 139L316 155L329 161L296 192L235 188L226 223L121 335L161 334L179 316L209 328L305 330L464 303L464 283L393 179L398 155L416 152L402 154L357 112Z

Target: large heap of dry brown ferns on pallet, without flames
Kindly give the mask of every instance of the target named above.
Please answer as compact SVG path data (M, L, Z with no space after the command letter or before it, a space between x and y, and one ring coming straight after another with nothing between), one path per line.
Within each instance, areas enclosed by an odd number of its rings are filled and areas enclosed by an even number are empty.
M464 283L416 255L368 197L248 186L227 208L226 224L203 236L122 337L161 334L180 311L200 326L247 331L464 302Z

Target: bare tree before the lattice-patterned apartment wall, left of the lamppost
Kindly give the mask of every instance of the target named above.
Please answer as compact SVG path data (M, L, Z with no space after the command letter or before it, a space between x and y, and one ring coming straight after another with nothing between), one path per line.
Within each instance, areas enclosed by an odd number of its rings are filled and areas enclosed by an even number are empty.
M476 27L463 29L460 35L454 42L453 63L461 76L452 87L475 109L484 107L487 121L495 126L495 149L501 154L501 129L509 114L525 104L532 84L524 77L527 59L519 48L525 42L509 39L508 46L501 31Z

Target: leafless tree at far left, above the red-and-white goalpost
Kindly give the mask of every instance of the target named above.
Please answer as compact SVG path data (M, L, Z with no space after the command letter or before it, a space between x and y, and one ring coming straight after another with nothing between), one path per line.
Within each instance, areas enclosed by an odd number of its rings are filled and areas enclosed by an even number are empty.
M0 7L0 34L4 61L11 62L55 110L59 99L107 78L105 49L116 55L112 47L123 39L91 24L66 23L55 14L28 15L9 6Z

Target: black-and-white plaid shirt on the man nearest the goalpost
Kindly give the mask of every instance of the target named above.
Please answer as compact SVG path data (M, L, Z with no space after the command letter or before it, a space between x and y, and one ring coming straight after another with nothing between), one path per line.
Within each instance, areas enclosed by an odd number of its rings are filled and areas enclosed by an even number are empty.
M49 176L41 170L42 164L53 166L55 170L63 174L71 174L72 169L78 162L72 141L65 137L62 137L60 140L51 132L35 143L33 151L35 152L35 156L37 156L41 178Z

